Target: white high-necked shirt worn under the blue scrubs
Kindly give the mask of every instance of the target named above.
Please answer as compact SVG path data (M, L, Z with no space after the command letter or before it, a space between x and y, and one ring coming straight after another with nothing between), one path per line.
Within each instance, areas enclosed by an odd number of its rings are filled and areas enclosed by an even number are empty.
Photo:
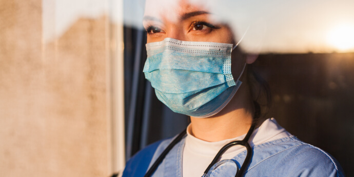
M250 136L251 147L265 142L290 136L274 118L267 119L262 125L255 129ZM182 173L183 177L202 176L205 169L214 159L218 151L227 143L243 140L246 134L219 142L206 142L191 135L191 126L187 127L186 142L183 149ZM232 146L221 156L220 160L231 159L240 152L246 150L244 146Z

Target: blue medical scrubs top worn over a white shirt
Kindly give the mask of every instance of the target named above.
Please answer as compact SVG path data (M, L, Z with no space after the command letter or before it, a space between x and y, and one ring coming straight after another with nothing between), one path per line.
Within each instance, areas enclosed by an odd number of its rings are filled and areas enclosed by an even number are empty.
M148 167L158 158L172 139L154 143L131 158L123 177L144 176ZM185 139L176 144L152 176L182 176L182 155ZM339 163L325 151L306 144L295 136L266 142L252 147L253 155L243 176L344 176ZM231 160L220 161L211 168L207 176L234 176L240 168L246 151ZM233 162L232 162L233 161ZM234 163L235 162L235 163ZM201 172L201 176L203 171Z

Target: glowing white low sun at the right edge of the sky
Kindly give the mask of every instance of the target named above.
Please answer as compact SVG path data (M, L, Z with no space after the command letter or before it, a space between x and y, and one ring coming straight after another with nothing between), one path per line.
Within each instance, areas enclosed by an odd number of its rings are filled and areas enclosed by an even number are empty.
M327 41L340 52L354 51L354 25L343 24L334 27L328 32Z

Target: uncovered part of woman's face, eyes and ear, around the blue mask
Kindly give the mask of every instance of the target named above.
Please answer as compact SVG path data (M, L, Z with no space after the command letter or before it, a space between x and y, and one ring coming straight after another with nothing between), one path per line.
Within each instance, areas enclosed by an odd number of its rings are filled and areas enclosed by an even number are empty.
M188 0L147 0L143 25L147 43L163 41L170 37L180 41L215 42L235 45L229 26L218 20L200 3ZM238 78L245 63L251 64L257 57L244 55L238 48L232 52L232 74ZM238 58L238 60L234 60ZM245 75L245 74L244 74Z

